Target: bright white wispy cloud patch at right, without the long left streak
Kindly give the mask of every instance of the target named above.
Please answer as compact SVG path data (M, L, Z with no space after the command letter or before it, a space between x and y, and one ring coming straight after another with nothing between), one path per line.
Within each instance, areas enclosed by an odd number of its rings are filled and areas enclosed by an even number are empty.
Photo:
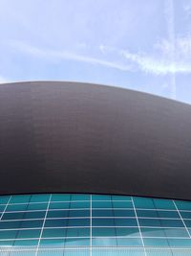
M107 46L101 46L101 52L116 53L125 58L132 70L141 70L153 75L191 73L191 36L177 37L172 43L168 39L160 40L150 52L131 53ZM172 51L174 56L172 58Z

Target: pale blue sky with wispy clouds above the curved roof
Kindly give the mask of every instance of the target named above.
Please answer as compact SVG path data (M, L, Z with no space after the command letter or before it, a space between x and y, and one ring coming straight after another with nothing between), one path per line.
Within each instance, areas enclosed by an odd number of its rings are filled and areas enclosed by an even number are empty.
M0 0L0 83L86 81L191 104L190 0Z

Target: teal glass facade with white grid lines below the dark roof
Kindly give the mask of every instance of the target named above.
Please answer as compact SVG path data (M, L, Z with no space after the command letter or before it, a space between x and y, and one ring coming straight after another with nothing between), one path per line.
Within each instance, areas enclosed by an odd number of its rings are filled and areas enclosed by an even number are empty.
M191 255L191 202L80 194L2 196L0 255Z

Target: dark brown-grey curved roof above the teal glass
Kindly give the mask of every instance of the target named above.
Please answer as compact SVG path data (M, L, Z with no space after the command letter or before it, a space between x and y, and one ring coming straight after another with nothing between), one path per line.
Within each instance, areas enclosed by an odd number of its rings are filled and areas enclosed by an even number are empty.
M0 194L191 199L191 106L77 82L0 85Z

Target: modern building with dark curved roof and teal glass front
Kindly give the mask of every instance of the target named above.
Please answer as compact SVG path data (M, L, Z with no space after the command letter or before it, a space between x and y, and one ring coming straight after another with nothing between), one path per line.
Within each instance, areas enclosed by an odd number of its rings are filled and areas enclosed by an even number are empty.
M0 85L0 255L191 255L191 106Z

